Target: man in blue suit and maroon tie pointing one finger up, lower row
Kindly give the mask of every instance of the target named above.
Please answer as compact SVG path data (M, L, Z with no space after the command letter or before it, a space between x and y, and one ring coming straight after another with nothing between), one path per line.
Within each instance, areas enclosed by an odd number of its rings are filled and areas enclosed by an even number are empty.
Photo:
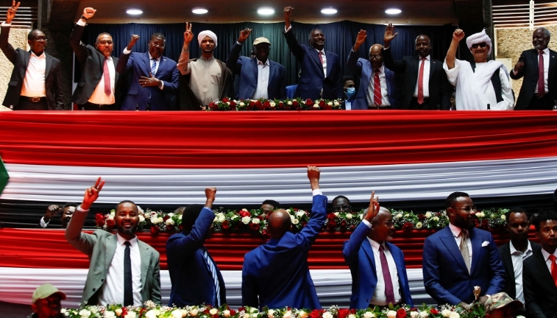
M388 209L379 208L375 191L356 230L345 241L343 256L352 275L350 308L365 309L406 303L414 307L405 255L389 243L395 227Z

